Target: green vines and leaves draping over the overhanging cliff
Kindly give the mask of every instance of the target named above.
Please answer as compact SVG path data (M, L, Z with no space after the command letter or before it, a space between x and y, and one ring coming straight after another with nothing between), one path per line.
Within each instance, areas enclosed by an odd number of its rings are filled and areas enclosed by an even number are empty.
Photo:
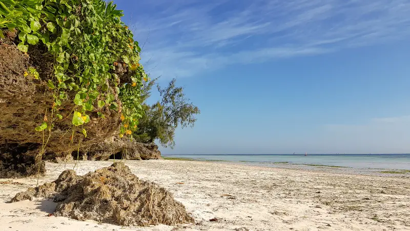
M128 125L121 128L123 135L131 134L141 117L139 98L147 74L139 65L141 49L120 21L122 15L116 5L103 0L2 0L0 29L17 29L21 41L17 48L23 52L29 45L40 44L53 55L54 74L45 84L54 92L53 110L69 92L75 92L74 126L87 123L86 112L94 108L118 110L114 97L118 94L121 119ZM115 69L119 65L131 72L130 83L118 84ZM30 75L38 79L35 69ZM103 113L97 113L104 118Z

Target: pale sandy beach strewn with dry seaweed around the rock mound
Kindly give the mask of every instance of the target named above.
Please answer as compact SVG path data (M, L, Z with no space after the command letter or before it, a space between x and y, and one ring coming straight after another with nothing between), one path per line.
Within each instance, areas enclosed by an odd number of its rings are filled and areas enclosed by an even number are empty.
M111 163L80 161L77 174ZM195 223L141 228L48 216L55 204L42 198L6 203L36 179L0 179L0 230L410 230L408 177L205 161L126 164L139 178L170 190ZM68 168L73 164L47 163L39 183Z

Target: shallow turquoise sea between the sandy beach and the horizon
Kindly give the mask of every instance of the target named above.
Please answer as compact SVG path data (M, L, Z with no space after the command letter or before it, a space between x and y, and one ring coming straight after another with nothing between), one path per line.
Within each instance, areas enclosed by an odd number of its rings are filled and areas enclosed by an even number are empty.
M410 154L308 154L308 156L263 154L212 154L212 155L164 155L165 157L190 158L197 160L220 160L248 162L260 165L280 164L313 164L352 168L387 168L410 170Z

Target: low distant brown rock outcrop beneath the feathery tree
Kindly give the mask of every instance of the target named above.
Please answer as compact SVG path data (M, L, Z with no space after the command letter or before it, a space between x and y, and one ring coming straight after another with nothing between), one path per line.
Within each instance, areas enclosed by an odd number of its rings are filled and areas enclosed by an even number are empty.
M130 141L115 137L91 145L84 152L87 153L88 160L108 160L113 155L115 159L122 159L122 155L125 155L127 160L162 159L161 152L155 144L138 143L135 140Z

